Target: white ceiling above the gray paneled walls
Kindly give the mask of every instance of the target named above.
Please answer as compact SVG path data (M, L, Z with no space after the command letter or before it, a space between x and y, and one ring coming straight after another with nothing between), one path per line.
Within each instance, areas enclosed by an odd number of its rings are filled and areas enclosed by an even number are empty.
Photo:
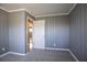
M26 9L35 17L67 14L74 3L0 3L8 11Z

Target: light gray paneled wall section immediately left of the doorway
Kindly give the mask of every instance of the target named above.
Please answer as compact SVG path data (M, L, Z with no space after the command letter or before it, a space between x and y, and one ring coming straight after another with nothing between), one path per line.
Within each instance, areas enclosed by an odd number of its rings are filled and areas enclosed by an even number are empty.
M25 53L25 12L9 13L9 51Z

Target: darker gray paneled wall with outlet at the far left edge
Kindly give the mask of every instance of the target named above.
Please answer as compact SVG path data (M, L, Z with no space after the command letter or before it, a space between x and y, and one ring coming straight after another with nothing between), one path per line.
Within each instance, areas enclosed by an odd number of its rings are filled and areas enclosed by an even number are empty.
M9 13L0 9L0 54L9 51Z

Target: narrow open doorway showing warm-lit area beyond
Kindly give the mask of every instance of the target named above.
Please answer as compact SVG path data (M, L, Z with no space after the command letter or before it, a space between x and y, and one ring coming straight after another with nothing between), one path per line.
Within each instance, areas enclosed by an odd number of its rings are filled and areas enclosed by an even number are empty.
M33 20L26 20L26 52L33 48Z

